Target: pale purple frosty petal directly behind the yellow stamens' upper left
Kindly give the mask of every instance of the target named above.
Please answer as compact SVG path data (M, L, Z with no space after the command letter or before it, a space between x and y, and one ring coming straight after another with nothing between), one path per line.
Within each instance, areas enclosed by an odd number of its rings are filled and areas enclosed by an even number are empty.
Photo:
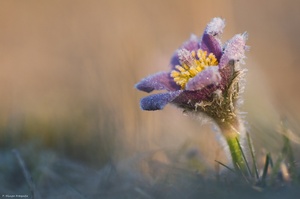
M174 53L172 59L171 59L171 67L172 69L175 68L175 66L180 65L178 51L180 49L186 49L188 51L197 51L199 49L199 40L196 35L192 34L190 39L182 44L182 46L176 50Z

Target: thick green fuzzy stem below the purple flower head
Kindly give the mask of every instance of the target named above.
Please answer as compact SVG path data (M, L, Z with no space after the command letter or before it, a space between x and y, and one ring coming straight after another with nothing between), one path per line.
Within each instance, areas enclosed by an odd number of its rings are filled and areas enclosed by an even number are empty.
M237 171L246 173L246 164L240 147L241 126L238 120L218 123L229 147L232 164Z

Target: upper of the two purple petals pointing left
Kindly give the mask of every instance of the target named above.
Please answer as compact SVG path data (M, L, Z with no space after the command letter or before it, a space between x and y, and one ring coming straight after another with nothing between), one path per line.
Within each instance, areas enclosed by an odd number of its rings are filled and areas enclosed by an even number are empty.
M150 93L153 90L176 91L180 89L169 72L159 72L142 79L135 87Z

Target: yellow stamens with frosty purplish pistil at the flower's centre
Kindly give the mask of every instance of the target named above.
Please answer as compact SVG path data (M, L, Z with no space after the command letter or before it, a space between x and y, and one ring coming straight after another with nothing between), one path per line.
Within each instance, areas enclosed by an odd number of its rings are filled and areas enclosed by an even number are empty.
M198 73L203 71L208 66L217 66L218 61L213 53L207 55L206 51L180 50L178 57L181 65L175 66L176 69L171 71L171 77L174 78L176 84L185 88L189 79L195 77Z

